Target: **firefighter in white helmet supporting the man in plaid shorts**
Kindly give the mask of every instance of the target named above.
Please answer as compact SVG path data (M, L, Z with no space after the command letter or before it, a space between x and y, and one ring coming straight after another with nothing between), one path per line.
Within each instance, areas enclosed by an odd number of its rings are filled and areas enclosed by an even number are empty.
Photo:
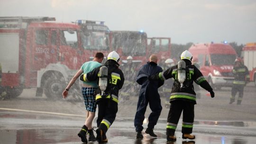
M124 74L119 69L119 54L112 51L108 57L107 62L103 65L108 69L108 82L106 81L106 90L97 90L96 103L98 105L98 119L96 130L96 139L99 143L107 143L106 132L114 122L118 112L118 96L119 90L124 84ZM101 66L102 67L102 66ZM80 77L82 81L99 81L101 79L101 67L95 68L89 73L83 74ZM101 84L99 83L101 89Z

